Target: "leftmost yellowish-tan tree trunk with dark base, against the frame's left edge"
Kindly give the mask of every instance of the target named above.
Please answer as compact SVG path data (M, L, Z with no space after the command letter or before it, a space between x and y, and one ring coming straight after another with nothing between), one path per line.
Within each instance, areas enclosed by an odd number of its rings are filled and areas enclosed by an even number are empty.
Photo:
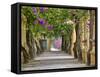
M29 53L28 53L28 46L26 40L26 25L27 25L27 18L25 15L22 14L22 21L21 21L21 62L27 63L29 61Z

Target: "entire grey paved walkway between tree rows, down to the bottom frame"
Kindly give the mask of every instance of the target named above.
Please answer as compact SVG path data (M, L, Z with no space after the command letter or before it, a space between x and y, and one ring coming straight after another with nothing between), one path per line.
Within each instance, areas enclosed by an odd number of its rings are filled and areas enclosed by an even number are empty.
M35 60L31 60L29 63L22 65L22 71L77 67L86 67L86 65L81 64L73 56L63 51L51 51L44 52L36 57Z

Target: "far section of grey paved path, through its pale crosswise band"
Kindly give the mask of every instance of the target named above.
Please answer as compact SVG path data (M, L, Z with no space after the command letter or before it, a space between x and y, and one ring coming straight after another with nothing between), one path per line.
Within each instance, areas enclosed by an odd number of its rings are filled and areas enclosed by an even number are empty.
M36 57L35 60L49 60L49 59L73 59L74 57L66 54L63 51L50 51L44 52L40 56Z

